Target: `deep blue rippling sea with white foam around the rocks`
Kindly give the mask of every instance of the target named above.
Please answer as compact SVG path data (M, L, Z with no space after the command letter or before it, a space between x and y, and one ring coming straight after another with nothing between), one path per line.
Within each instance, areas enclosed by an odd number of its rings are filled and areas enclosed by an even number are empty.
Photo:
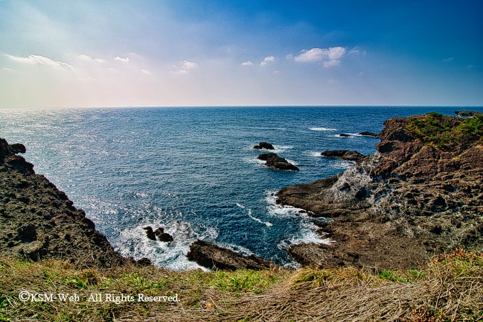
M26 159L86 211L115 249L173 270L204 239L281 265L293 243L323 243L314 219L275 204L275 192L337 174L348 161L324 150L375 152L383 121L459 107L228 107L0 110L0 137L23 143ZM483 111L482 108L472 108ZM453 114L454 115L454 114ZM260 141L299 172L257 160ZM170 244L150 241L143 227L164 227Z

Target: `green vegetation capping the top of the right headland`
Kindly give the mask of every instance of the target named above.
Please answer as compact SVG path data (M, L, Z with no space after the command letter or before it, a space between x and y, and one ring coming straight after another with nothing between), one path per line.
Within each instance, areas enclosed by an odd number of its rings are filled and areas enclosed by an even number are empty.
M406 130L426 143L443 150L461 144L477 141L483 143L483 115L475 115L460 122L450 123L443 114L430 112L423 116L411 117Z

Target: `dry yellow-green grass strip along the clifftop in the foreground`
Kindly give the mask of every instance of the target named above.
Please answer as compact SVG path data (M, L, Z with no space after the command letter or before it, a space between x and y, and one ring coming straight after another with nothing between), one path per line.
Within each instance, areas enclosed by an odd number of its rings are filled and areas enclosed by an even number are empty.
M19 292L79 301L19 300ZM483 255L455 251L420 271L170 272L75 270L61 261L0 260L0 321L483 321ZM88 302L90 294L179 302ZM137 299L137 297L136 297Z

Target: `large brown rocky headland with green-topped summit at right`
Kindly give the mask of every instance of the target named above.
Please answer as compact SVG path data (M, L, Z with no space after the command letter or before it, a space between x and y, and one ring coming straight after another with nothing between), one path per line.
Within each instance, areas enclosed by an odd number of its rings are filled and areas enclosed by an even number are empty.
M483 247L483 116L388 119L377 152L333 177L280 190L277 203L332 218L331 245L289 249L303 265L415 268Z

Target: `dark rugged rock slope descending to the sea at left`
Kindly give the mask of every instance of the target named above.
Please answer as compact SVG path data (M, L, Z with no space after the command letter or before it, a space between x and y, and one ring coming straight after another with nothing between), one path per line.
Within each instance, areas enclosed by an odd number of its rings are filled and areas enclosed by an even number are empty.
M25 146L0 139L0 256L63 259L79 267L134 263L19 152Z

